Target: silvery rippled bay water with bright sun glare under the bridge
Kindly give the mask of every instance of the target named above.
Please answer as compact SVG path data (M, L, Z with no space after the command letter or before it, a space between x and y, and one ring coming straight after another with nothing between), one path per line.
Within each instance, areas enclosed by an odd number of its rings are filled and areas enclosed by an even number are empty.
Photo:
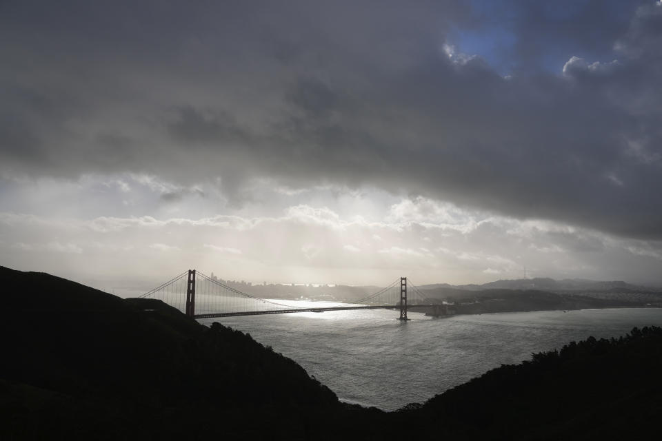
M489 369L528 360L531 353L559 349L572 340L662 326L662 309L657 308L408 315L409 322L400 322L397 311L373 309L200 322L217 321L248 332L298 362L341 400L386 411L424 402Z

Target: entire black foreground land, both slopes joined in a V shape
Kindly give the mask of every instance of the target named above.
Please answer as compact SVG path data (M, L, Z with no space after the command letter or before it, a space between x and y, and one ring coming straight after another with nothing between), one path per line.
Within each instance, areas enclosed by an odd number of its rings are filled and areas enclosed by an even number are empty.
M2 440L657 438L643 438L662 412L656 327L538 353L383 413L159 300L3 267L0 286Z

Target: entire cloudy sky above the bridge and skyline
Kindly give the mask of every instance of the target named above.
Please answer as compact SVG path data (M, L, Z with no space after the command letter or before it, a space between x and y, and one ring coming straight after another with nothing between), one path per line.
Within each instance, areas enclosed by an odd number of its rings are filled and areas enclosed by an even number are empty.
M0 265L662 284L660 1L0 1Z

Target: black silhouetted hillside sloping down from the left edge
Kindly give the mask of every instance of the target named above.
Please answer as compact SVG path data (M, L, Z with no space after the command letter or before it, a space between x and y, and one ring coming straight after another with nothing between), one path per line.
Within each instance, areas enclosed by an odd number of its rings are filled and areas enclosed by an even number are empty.
M159 300L3 267L0 283L0 410L11 416L0 438L256 435L272 424L270 433L304 438L341 409L292 360Z

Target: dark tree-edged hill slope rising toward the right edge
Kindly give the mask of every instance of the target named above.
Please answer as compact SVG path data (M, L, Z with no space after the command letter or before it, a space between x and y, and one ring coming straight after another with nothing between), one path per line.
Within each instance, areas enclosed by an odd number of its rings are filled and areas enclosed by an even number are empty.
M492 369L394 420L440 439L656 440L661 371L662 328L635 328Z

